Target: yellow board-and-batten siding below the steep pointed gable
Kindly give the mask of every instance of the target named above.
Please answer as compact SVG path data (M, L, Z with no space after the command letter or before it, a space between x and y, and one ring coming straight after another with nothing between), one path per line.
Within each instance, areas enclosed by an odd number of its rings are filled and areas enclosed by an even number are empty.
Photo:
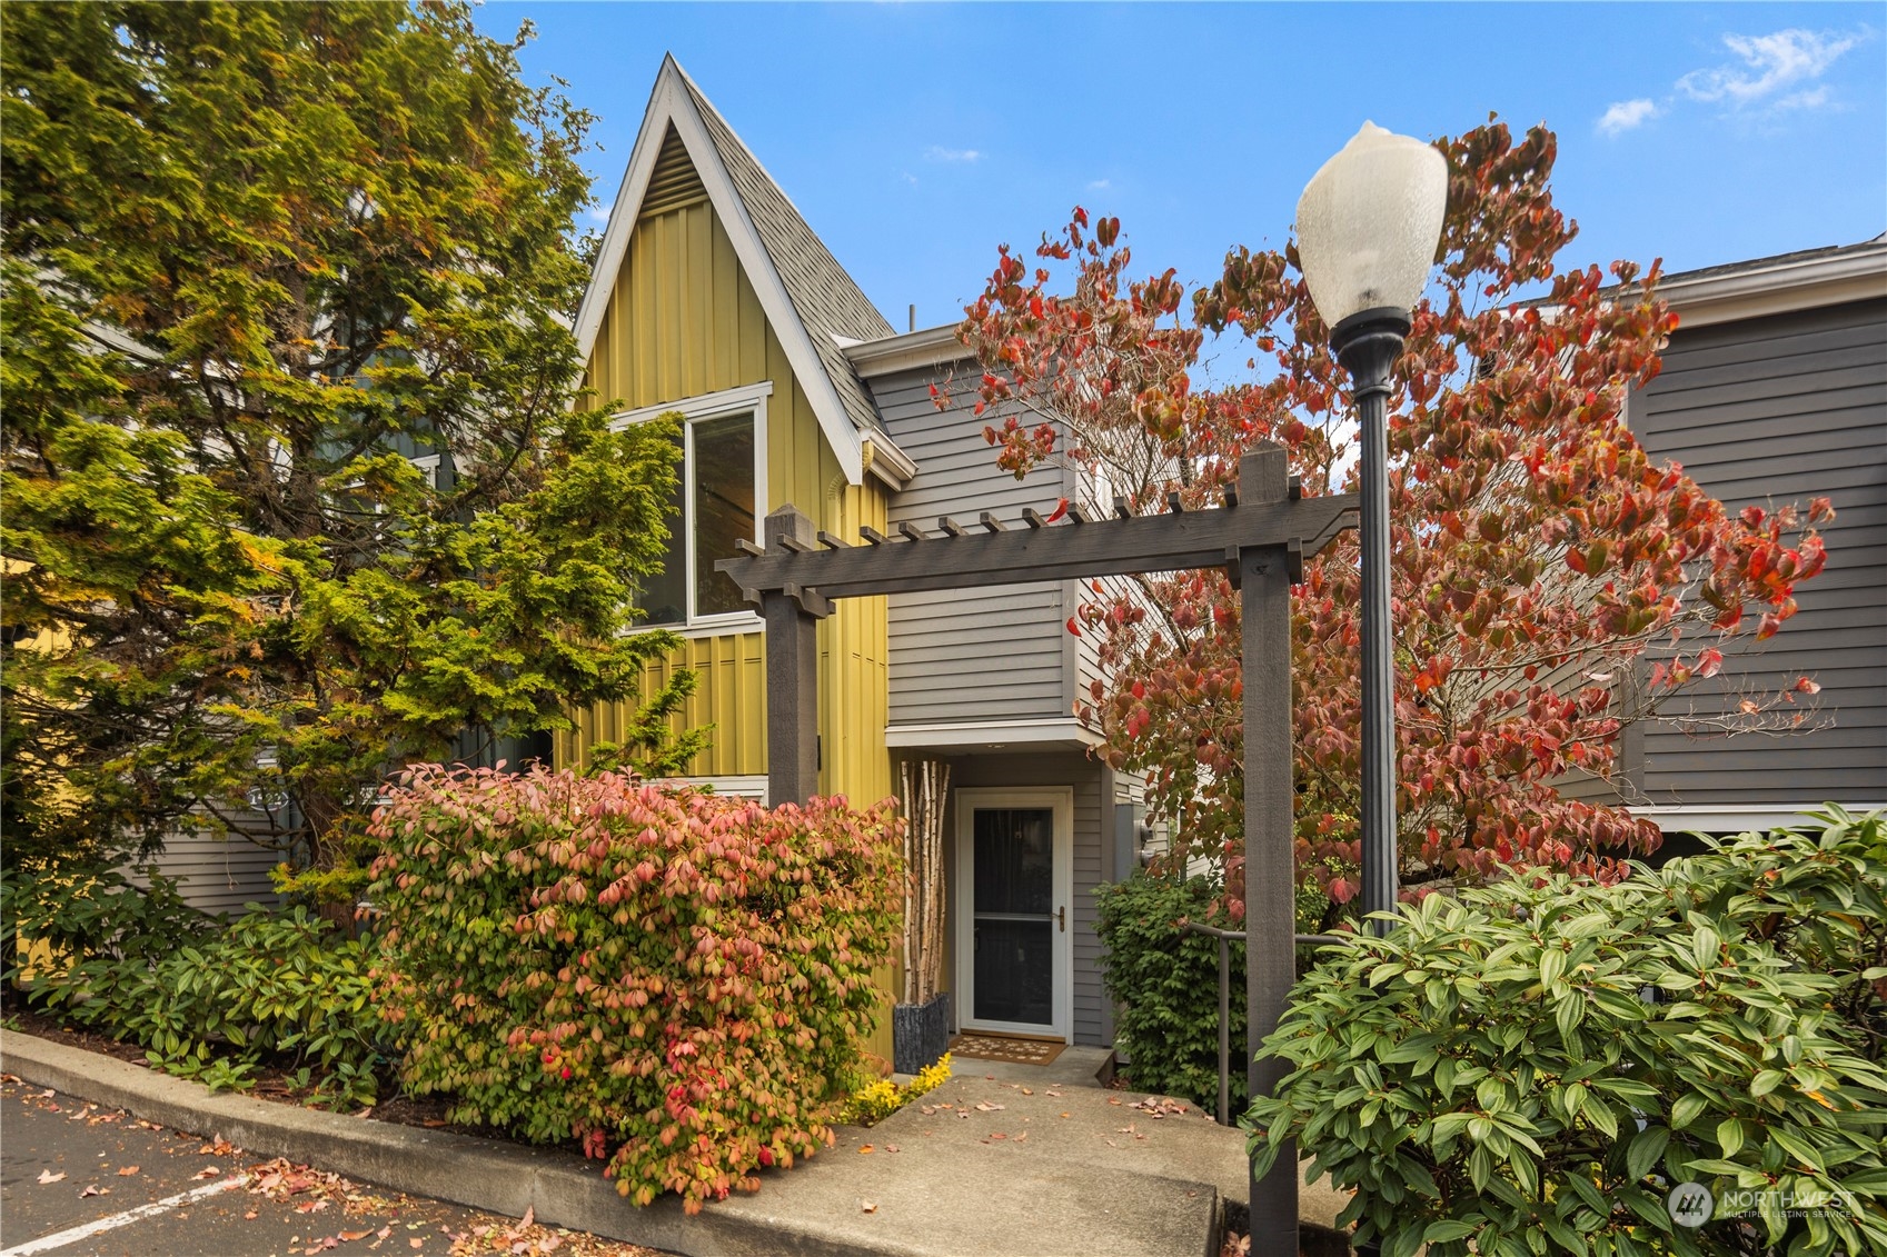
M819 528L859 536L860 525L885 527L885 491L849 485L819 430L806 391L768 325L708 191L679 136L670 130L642 202L623 266L610 291L589 364L596 400L625 410L770 381L766 400L766 502L791 502ZM823 793L872 804L893 791L885 749L887 632L883 598L849 598L819 625L819 734ZM713 725L713 746L691 776L766 772L766 670L759 623L696 632L653 664L645 691L676 668L698 683L679 727ZM623 704L577 713L574 734L559 738L560 764L581 763L593 742L617 740Z

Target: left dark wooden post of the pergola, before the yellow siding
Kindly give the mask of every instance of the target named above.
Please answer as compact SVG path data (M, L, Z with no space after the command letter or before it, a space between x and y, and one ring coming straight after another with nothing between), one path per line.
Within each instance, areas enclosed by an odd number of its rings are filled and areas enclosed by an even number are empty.
M766 517L766 549L817 542L813 521L793 506ZM766 621L766 802L806 802L819 793L819 619L794 587L762 589Z

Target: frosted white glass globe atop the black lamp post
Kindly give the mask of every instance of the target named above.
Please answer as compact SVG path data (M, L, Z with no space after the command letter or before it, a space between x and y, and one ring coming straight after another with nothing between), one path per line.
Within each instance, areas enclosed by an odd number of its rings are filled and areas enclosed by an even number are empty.
M1445 211L1442 153L1364 123L1298 198L1298 259L1323 321L1408 311L1428 281Z

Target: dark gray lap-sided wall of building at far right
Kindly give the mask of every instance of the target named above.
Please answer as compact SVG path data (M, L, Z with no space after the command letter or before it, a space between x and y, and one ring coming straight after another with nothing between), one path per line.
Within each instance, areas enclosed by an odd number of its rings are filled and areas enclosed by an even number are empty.
M1821 683L1808 725L1827 727L1736 738L1645 727L1627 744L1638 791L1653 810L1887 800L1887 300L1679 328L1628 423L1732 511L1815 496L1838 511L1821 528L1827 570L1796 587L1800 610L1779 634L1728 655L1719 698L1734 704L1745 678L1774 691L1806 674Z

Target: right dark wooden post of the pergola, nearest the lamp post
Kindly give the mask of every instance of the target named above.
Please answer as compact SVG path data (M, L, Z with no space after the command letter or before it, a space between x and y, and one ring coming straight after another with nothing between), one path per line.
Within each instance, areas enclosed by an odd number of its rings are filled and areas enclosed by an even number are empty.
M1238 464L1238 510L1289 494L1283 445L1266 442ZM1291 781L1291 549L1238 551L1245 685L1245 1025L1251 1095L1270 1095L1283 1061L1259 1055L1296 980ZM1251 1251L1298 1251L1298 1163L1287 1146L1251 1180Z

